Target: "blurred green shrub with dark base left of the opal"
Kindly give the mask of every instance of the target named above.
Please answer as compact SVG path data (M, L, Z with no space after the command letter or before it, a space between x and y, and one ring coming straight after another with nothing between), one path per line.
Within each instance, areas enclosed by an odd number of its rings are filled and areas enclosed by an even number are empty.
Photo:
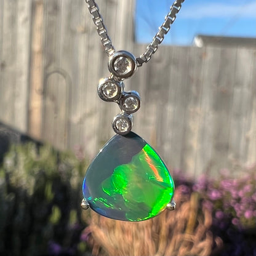
M13 145L0 169L0 254L82 255L86 161L34 143ZM84 255L84 254L83 254Z

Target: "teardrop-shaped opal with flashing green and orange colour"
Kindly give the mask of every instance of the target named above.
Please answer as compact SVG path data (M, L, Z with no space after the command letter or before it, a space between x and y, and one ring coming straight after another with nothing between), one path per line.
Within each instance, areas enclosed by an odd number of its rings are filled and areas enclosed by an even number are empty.
M156 151L130 132L115 135L103 146L87 169L82 190L98 214L136 222L166 208L174 181Z

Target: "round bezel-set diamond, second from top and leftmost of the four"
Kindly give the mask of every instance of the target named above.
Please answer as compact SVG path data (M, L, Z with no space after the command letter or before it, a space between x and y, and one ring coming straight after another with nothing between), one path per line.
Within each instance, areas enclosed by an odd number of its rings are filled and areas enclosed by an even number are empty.
M122 82L104 78L98 84L98 96L105 102L114 102L119 100L123 89L124 84Z

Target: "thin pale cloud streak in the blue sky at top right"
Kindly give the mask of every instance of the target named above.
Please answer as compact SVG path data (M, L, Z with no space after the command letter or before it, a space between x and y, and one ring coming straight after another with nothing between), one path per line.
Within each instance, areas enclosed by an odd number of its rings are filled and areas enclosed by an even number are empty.
M183 5L185 7L185 4ZM183 8L180 18L255 18L256 1L244 5L211 3L205 5L192 4Z

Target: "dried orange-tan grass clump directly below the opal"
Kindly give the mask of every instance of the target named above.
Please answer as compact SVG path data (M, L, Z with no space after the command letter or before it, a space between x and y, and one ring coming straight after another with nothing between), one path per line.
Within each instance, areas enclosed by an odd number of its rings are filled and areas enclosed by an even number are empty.
M222 240L209 230L212 214L199 210L198 194L184 198L176 193L175 199L175 211L166 210L143 222L121 222L91 212L84 232L89 236L92 255L207 256L220 249Z

